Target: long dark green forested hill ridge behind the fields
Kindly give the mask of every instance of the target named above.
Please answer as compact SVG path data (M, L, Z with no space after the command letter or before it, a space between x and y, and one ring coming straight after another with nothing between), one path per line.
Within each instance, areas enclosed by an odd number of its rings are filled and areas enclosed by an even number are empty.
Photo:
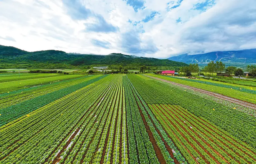
M63 51L46 50L27 52L15 47L0 45L0 60L5 63L64 63L74 66L78 65L146 65L146 66L186 66L183 62L171 61L168 59L146 58L121 53L109 55L77 54Z

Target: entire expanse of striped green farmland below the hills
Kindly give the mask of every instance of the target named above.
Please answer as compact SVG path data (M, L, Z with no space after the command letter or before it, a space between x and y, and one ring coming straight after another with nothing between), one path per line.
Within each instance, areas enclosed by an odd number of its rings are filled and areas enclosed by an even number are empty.
M0 76L0 164L256 164L256 94L246 88L45 76Z

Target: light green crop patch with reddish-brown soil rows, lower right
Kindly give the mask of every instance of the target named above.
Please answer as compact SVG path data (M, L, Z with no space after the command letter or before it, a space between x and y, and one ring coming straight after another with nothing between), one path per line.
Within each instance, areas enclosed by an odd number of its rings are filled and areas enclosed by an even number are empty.
M168 134L174 138L189 163L253 163L256 152L251 146L218 131L185 109L167 104L150 105ZM212 130L214 129L214 130Z

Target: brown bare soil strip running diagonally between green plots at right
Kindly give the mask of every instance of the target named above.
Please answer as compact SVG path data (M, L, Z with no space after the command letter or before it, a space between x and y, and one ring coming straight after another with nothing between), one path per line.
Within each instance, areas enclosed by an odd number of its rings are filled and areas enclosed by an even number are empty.
M173 84L173 85L182 86L182 87L194 90L194 91L198 91L198 92L203 93L203 94L208 94L210 96L214 96L214 97L217 97L219 99L223 99L223 100L235 103L235 104L242 105L244 107L255 110L255 113L256 113L256 104L253 104L253 103L250 103L250 102L245 102L245 101L242 101L242 100L238 100L238 99L228 97L228 96L225 96L225 95L222 95L222 94L218 94L218 93L215 93L215 92L206 91L206 90L199 89L199 88L196 88L196 87L186 86L186 85L183 85L183 84L179 84L179 83L175 83L175 82L172 82L172 81L164 80L164 79L161 79L161 78L156 78L156 77L152 77L152 76L149 76L149 77L160 80L160 81L163 81L163 82L166 82L166 83L170 83L170 84Z

